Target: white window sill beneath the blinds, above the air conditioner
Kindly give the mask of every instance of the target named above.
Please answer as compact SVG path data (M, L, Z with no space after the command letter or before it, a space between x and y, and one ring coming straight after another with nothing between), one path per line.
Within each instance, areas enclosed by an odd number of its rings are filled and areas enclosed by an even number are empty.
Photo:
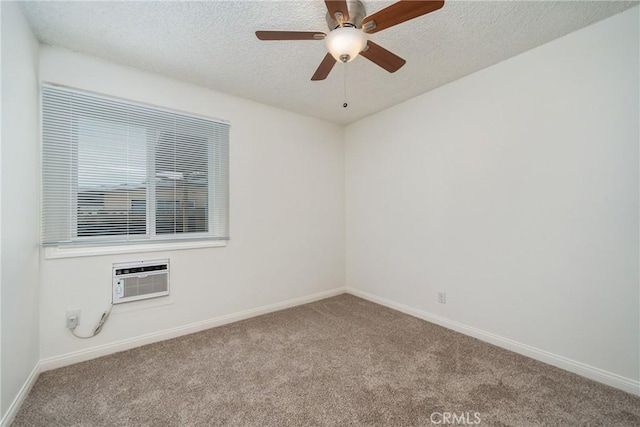
M227 246L226 240L194 242L150 243L119 246L54 246L44 248L45 259L78 258L84 256L130 254L139 252L163 252L183 249L218 248Z

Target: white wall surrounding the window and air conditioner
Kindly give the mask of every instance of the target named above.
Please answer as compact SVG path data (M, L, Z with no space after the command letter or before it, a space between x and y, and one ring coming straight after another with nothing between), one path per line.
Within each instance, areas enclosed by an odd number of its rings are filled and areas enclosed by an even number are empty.
M341 127L60 48L42 46L40 77L231 122L229 245L43 260L45 362L344 287ZM117 306L101 335L70 335L66 310L82 310L78 331L88 333L110 302L113 262L164 257L171 259L171 304Z

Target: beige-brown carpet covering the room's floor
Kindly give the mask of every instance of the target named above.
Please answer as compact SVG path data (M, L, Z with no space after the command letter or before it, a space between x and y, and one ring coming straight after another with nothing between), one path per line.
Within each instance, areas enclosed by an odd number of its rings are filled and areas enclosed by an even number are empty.
M638 426L640 398L340 295L45 372L14 426L446 420Z

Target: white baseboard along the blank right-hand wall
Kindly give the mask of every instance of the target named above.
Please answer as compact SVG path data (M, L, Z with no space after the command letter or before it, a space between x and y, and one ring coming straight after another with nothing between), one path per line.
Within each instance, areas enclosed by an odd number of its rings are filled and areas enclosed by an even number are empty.
M479 340L486 341L493 345L497 345L498 347L502 347L504 349L513 351L518 354L522 354L524 356L530 357L535 360L539 360L544 363L548 363L549 365L553 365L558 368L564 369L566 371L573 372L575 374L592 379L594 381L601 382L611 387L624 390L627 393L640 396L640 381L636 381L631 378L626 378L621 375L614 374L613 372L605 371L600 368L595 368L593 366L589 366L587 364L584 364L572 359L568 359L566 357L563 357L554 353L550 353L545 350L541 350L526 344L522 344L517 341L510 340L508 338L503 338L501 336L498 336L489 332L485 332L480 329L473 328L471 326L467 326L463 323L455 322L455 321L446 319L444 317L428 313L426 311L418 310L416 308L409 307L407 305L404 305L383 297L379 297L374 294L370 294L369 292L361 291L359 289L355 289L347 286L347 293L366 299L371 302L375 302L376 304L384 305L385 307L389 307L394 310L401 311L410 316L414 316L414 317L426 320L428 322L432 322L437 325L444 326L445 328L453 329L454 331L463 333L465 335L470 335L474 338L478 338Z

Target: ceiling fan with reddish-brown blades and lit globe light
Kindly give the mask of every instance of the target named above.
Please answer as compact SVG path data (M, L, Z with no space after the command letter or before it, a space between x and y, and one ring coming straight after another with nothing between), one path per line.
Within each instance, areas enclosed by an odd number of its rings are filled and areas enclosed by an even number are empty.
M327 78L336 61L350 62L358 54L390 73L398 71L405 60L367 39L377 33L444 6L444 1L400 0L366 16L364 5L356 0L325 0L329 34L320 31L256 31L260 40L324 40L327 55L311 80Z

